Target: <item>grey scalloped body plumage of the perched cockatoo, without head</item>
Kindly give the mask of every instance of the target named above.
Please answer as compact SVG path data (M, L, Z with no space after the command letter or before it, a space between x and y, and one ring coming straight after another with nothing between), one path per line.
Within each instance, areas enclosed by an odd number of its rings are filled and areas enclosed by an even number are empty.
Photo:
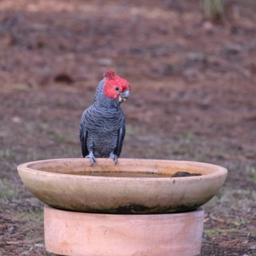
M118 100L102 92L104 81L97 87L92 106L85 109L79 126L83 157L90 152L95 157L120 156L125 136L125 116Z

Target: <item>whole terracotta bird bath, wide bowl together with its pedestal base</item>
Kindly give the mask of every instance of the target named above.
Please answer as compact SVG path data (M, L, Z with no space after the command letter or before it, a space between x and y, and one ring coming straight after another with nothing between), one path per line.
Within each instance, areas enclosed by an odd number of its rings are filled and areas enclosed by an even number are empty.
M227 177L213 164L153 159L53 159L18 172L46 204L46 250L68 256L198 255L200 206ZM177 172L201 175L172 177Z

